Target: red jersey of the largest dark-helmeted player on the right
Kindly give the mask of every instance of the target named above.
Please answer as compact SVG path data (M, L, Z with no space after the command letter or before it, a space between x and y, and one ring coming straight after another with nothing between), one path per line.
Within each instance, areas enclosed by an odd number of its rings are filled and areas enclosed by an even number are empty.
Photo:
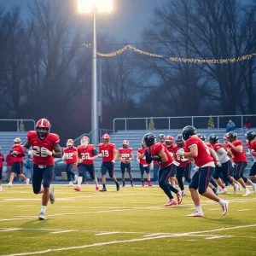
M213 162L209 149L207 148L206 144L201 140L201 138L190 137L186 141L186 148L189 150L192 145L196 145L198 150L198 155L194 157L196 166L201 167Z

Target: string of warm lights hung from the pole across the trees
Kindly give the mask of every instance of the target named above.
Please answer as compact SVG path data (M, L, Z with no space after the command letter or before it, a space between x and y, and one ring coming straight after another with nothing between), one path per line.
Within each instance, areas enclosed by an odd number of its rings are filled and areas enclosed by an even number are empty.
M116 51L113 51L111 53L108 54L104 54L104 53L99 53L97 52L97 55L101 56L101 57L114 57L116 55L120 55L123 52L125 52L126 50L133 50L141 55L148 55L150 57L154 57L154 58L165 58L165 56L163 55L156 55L147 51L143 51L142 49L137 49L134 46L131 46L131 44L125 45L125 47L118 49ZM253 54L249 54L249 55L243 55L241 57L237 57L237 58L231 58L231 59L207 59L207 60L203 60L203 59L187 59L187 58L179 58L179 57L170 57L171 61L176 61L176 62L183 62L183 63L207 63L207 64L228 64L228 63L234 63L234 62L238 62L238 61L245 61L245 60L250 60L252 59L254 56L256 56L256 53Z

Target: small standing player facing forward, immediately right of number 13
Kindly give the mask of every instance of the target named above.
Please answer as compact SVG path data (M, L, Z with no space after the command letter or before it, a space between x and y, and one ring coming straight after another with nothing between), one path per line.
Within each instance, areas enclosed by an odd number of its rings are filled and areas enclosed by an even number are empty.
M129 148L129 142L127 140L123 141L123 148L119 148L118 159L120 160L120 169L122 172L122 182L123 187L125 187L125 170L127 170L131 186L132 183L132 173L131 173L131 160L133 160L132 148Z

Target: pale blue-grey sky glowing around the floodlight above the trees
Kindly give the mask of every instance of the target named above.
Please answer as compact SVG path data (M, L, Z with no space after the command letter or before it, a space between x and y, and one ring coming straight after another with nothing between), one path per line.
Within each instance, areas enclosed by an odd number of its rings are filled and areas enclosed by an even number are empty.
M27 4L34 0L0 0L1 5L9 9L19 5L22 17L28 16ZM38 0L45 1L45 0ZM84 32L90 32L92 15L79 15L76 9L76 0L51 0L60 3L70 12L74 24L84 25ZM113 12L98 15L97 31L105 32L118 43L141 42L143 29L150 26L154 8L160 7L168 0L113 0ZM79 26L82 27L82 26Z

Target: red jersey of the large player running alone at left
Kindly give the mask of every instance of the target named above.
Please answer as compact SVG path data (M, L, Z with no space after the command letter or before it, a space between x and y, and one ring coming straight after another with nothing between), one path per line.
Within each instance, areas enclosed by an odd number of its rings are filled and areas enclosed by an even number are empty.
M52 155L41 154L41 148L47 148L49 151L54 150L54 145L60 143L60 137L55 133L49 133L44 139L40 139L36 131L28 131L27 141L31 144L32 150L37 151L33 155L32 162L38 166L54 166L55 160Z

